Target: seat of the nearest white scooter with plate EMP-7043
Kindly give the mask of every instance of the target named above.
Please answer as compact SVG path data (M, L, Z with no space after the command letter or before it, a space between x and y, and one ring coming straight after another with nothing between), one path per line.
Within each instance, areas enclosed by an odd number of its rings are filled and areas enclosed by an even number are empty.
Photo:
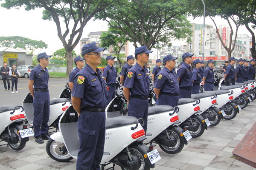
M132 125L137 122L137 118L133 116L118 116L113 118L106 118L106 129L121 127L125 125Z

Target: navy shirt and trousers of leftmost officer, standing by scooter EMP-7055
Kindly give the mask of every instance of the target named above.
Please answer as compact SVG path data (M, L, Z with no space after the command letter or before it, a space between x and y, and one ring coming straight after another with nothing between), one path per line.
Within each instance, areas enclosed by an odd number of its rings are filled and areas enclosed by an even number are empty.
M45 69L45 70L44 70ZM33 68L29 79L34 80L34 136L35 138L48 133L48 120L50 114L50 96L48 91L49 73L41 65Z

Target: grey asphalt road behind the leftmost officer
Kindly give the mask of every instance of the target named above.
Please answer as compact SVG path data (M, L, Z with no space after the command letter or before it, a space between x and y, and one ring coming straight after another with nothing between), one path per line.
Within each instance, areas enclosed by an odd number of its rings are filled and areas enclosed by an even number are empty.
M0 80L0 106L2 105L22 105L23 99L26 94L29 93L28 81L26 78L18 79L18 92L12 94L12 91L4 90L3 80ZM68 78L50 78L49 79L49 93L50 99L58 98L61 91L65 88L65 84ZM12 87L12 82L10 80L10 85ZM15 87L14 87L15 90Z

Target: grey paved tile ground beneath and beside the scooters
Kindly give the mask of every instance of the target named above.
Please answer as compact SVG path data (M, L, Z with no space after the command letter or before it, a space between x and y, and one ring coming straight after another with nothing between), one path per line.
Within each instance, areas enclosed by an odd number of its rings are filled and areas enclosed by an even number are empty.
M190 139L180 153L170 155L160 151L161 160L155 170L256 170L233 158L232 151L256 122L256 101L244 108L235 119L221 120L208 127L198 138ZM0 147L0 170L75 170L76 160L57 162L49 158L45 144L37 144L33 137L21 151ZM3 142L0 142L3 144ZM116 170L121 170L116 166Z

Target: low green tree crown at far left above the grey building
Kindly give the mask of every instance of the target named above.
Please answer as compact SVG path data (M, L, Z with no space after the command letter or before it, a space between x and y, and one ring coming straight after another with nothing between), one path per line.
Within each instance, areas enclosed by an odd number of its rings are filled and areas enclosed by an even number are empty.
M31 40L26 37L12 36L0 37L0 47L12 47L26 51L28 54L34 54L36 49L47 48L47 44L43 41Z

